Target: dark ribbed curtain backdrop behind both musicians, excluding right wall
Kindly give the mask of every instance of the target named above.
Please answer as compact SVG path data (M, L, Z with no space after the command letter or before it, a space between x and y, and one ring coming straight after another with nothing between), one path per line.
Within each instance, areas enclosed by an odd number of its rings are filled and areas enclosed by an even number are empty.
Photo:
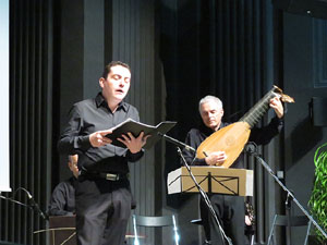
M93 79L98 78L99 63L111 59L131 61L135 85L128 99L140 108L146 123L156 124L165 118L178 121L169 134L180 140L199 123L197 103L205 95L220 97L225 119L235 121L272 83L282 87L278 54L282 47L277 45L280 37L275 32L279 16L269 0L10 2L13 193L8 196L29 204L24 191L14 192L24 187L43 210L52 187L63 176L61 170L66 168L65 162L60 166L56 149L62 118L72 100L89 97L98 89ZM96 13L97 21L93 17ZM181 201L187 201L166 196L164 179L180 166L174 147L162 145L131 168L140 201L137 213L175 213ZM263 150L267 160L274 160L275 149L271 146ZM249 166L256 170L253 204L257 241L263 244L270 223L269 207L278 200L264 170L251 161ZM165 197L173 209L164 210ZM4 200L0 206L0 240L45 244L45 234L33 234L46 225L36 212ZM165 237L162 241L165 244Z

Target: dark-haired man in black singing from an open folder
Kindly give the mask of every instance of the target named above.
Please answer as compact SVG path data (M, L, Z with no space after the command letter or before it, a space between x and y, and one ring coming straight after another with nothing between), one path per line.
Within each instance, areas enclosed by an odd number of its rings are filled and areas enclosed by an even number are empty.
M111 127L128 118L140 120L137 110L123 101L131 85L131 70L120 61L109 63L99 79L101 93L73 106L58 143L62 154L77 154L81 174L75 189L78 245L122 245L131 215L132 194L128 162L143 156L146 137L131 133L111 145Z

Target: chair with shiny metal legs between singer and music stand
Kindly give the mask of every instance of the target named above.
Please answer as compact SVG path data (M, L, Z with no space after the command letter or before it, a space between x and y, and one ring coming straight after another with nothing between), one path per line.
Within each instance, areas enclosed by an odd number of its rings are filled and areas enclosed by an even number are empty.
M140 245L137 226L147 228L164 228L172 226L174 233L174 244L179 245L179 234L174 216L161 216L161 217L148 217L148 216L136 216L133 215L133 228L134 228L134 245Z

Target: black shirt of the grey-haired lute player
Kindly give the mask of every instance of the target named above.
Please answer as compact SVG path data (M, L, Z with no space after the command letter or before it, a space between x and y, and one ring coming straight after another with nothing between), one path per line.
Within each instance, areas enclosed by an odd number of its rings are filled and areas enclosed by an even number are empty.
M221 122L219 130L229 125L229 123ZM274 118L267 126L262 128L254 127L251 130L249 142L254 142L257 145L268 144L272 137L275 137L281 131L283 126L283 120ZM214 131L206 125L202 124L198 128L192 128L185 139L185 144L197 149L203 140L206 139ZM232 163L230 168L234 169L243 169L243 154ZM207 166L205 159L195 158L195 152L189 151L186 149L183 150L183 156L189 164L194 166Z

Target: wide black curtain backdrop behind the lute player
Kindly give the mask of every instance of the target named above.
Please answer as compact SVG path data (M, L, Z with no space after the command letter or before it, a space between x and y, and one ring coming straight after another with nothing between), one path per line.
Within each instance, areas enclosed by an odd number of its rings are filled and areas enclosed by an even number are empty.
M171 136L184 140L187 131L199 124L198 101L206 95L219 97L225 108L223 120L233 122L272 84L282 87L282 81L276 79L279 57L274 56L280 48L274 46L274 39L279 38L274 30L277 21L269 1L161 0L160 53L167 84L167 119L178 121ZM272 160L274 150L265 150L266 160ZM167 144L166 156L167 174L180 164L171 144ZM257 240L264 243L264 225L269 223L264 211L268 210L267 179L261 167L253 161L249 164L255 170ZM187 203L187 197L168 196L167 201L179 208Z

